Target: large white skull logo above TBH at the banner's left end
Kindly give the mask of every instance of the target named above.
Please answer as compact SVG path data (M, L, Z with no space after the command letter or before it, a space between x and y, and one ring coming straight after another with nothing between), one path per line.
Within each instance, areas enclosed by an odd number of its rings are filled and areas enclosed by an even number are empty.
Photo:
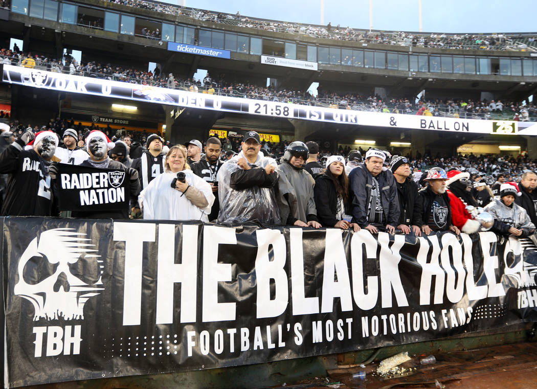
M86 301L104 290L103 261L93 254L97 250L91 247L95 245L85 243L90 239L79 237L83 233L69 230L42 232L39 243L34 238L19 260L14 293L33 304L34 320L83 319ZM82 274L72 273L77 265L82 267ZM86 274L95 275L95 279L98 276L98 280L85 282L80 277L88 278ZM25 280L25 275L30 279Z

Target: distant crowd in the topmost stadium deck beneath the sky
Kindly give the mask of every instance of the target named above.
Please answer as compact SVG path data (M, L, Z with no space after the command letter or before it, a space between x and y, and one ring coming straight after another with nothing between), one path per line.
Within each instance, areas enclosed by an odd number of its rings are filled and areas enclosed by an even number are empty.
M314 38L333 40L346 40L362 43L379 43L382 45L417 46L446 49L482 49L482 50L520 50L528 46L535 46L535 36L521 34L495 33L481 34L445 34L445 33L405 33L405 32L371 32L358 30L350 26L326 26L299 24L291 22L263 20L236 14L213 12L183 8L178 5L165 5L143 0L108 0L111 3L123 4L135 8L151 9L175 16L188 16L202 21L213 21L235 25L238 27L253 28L256 30L284 32L295 35L307 35Z

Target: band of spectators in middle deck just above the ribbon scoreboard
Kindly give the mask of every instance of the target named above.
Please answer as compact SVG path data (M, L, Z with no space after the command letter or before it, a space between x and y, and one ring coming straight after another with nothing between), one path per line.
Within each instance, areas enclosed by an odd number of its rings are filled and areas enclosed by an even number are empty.
M0 63L35 67L53 72L64 72L84 77L104 78L122 82L168 87L220 96L242 97L268 101L288 102L311 106L324 106L357 111L418 114L425 116L442 116L467 119L500 120L537 120L537 107L522 104L520 101L468 100L468 99L422 99L387 98L365 96L356 93L336 93L318 90L317 96L308 91L278 89L272 86L255 85L248 82L228 82L225 75L214 78L207 75L203 80L179 78L162 74L157 67L154 70L126 68L110 63L90 61L79 64L70 55L62 58L48 58L44 55L22 53L14 50L0 49ZM30 62L28 62L30 61Z

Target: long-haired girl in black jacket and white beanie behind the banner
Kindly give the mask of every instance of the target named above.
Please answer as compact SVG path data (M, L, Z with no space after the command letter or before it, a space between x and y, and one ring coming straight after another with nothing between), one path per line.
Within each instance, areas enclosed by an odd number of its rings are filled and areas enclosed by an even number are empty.
M317 218L323 227L360 230L358 224L344 218L345 204L349 201L349 178L342 156L330 156L326 160L326 171L315 179L314 194Z

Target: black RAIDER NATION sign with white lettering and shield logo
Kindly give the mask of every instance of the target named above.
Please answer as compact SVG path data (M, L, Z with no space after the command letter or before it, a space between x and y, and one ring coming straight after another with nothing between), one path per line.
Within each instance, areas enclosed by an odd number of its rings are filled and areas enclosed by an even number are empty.
M125 171L58 165L56 187L62 211L113 211L128 204Z

